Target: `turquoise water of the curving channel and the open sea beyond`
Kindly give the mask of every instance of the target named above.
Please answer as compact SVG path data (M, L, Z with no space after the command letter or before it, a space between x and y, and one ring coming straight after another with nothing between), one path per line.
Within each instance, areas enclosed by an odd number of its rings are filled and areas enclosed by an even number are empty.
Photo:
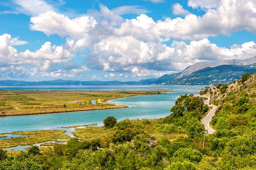
M182 91L133 96L108 101L115 104L124 104L125 102L125 105L129 106L128 108L0 117L0 133L23 130L57 129L57 127L92 123L98 123L100 126L103 125L103 120L108 116L114 116L118 121L126 118L161 118L170 115L170 108L174 105L175 100L180 95L186 93L198 93L200 91L198 88L202 88L203 86L83 86L81 89L72 89L72 87L67 89L66 86L40 86L40 88L35 86L15 86L16 88L10 86L5 87L5 89L10 88L20 90L149 90L156 88L173 88ZM4 89L3 86L0 87L0 89L1 88Z

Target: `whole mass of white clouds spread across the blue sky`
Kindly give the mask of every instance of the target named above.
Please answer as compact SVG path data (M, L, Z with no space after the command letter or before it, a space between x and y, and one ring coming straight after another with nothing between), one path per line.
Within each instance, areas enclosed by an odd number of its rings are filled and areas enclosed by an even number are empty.
M25 1L26 2L26 1ZM217 1L215 1L217 2ZM76 77L91 69L108 71L105 78L134 76L161 76L182 71L201 62L232 58L249 58L256 53L254 42L233 45L230 49L218 47L207 38L246 29L256 32L256 3L245 0L223 0L219 4L204 4L190 0L192 8L205 10L196 16L173 5L173 12L184 18L163 18L154 21L146 14L134 19L120 15L135 13L143 8L121 6L109 10L100 4L100 11L77 18L68 18L58 12L46 11L31 17L30 29L46 35L66 37L64 45L45 42L35 52L18 52L14 46L27 41L9 34L0 36L0 74L10 76ZM138 11L136 11L138 10ZM163 42L176 39L167 46ZM190 40L185 43L183 40ZM186 41L187 42L187 41ZM77 52L87 52L85 63L64 69L72 63ZM79 54L79 53L78 53ZM60 69L61 68L61 69ZM6 70L6 73L3 73ZM100 78L100 77L97 77Z

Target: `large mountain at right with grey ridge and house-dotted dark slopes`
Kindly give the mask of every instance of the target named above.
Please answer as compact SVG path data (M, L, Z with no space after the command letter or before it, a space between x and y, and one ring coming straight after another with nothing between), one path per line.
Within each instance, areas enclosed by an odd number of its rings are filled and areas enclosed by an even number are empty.
M255 63L256 56L242 60L233 59L218 62L200 62L188 66L181 72L170 75L165 74L151 83L157 85L210 85L211 83L229 83L234 79L241 78L246 72L252 72L252 67ZM228 66L230 67L227 68ZM228 70L231 71L232 74L231 72L228 73ZM225 77L226 74L227 76Z

